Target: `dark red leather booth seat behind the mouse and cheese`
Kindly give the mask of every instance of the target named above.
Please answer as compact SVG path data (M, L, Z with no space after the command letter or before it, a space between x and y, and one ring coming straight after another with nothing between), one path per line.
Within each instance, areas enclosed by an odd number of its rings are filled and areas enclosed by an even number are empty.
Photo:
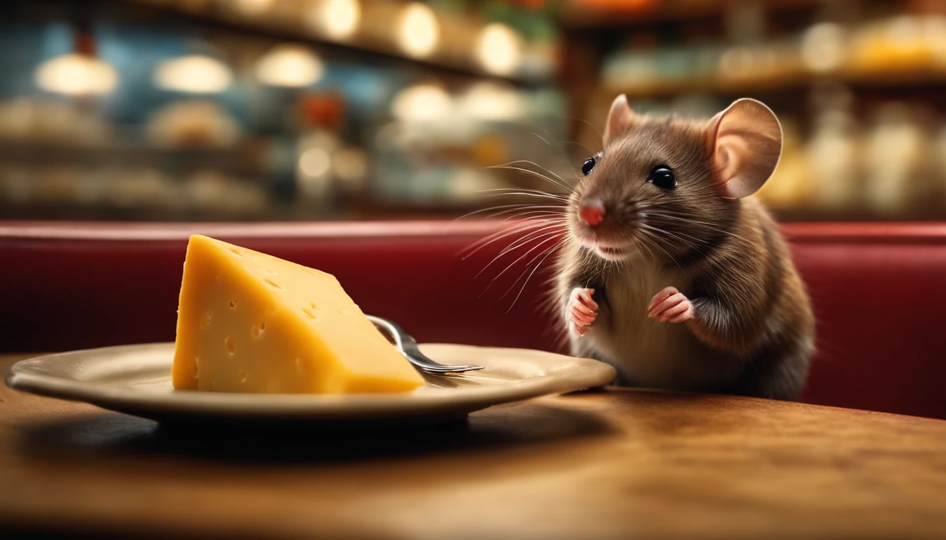
M421 341L559 350L551 259L522 287L532 271L523 263L552 240L502 255L479 277L508 240L460 256L504 226L0 223L0 352L173 340L193 233L334 273L365 312ZM804 401L946 418L946 224L784 229L818 319Z

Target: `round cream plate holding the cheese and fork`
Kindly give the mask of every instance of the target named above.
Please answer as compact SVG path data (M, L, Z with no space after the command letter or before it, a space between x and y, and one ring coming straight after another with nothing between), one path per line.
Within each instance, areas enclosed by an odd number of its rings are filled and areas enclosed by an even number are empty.
M431 421L462 417L500 403L603 386L607 364L527 349L425 344L425 355L486 369L428 376L413 392L386 394L259 394L176 391L173 343L106 347L36 357L13 364L15 390L84 401L104 409L175 423Z

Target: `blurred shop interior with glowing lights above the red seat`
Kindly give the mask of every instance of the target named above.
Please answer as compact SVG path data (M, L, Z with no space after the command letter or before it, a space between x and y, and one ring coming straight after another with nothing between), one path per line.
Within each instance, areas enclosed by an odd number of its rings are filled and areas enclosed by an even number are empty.
M783 220L946 219L941 0L7 0L0 47L0 218L457 217L626 93L772 107Z

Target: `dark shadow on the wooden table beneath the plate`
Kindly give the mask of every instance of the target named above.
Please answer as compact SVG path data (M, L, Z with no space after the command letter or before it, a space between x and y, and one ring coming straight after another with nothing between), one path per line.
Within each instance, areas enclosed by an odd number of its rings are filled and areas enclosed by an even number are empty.
M478 453L600 436L614 429L594 412L545 403L499 406L436 425L365 429L166 425L105 411L20 427L22 444L33 457L177 455L256 463L364 462Z

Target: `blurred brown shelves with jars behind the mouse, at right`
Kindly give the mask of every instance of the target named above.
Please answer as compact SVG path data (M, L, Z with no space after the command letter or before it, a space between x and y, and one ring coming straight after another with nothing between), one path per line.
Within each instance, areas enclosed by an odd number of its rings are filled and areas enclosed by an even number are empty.
M622 93L684 116L754 97L784 131L759 193L781 219L946 218L946 3L586 0L559 20L584 146Z

